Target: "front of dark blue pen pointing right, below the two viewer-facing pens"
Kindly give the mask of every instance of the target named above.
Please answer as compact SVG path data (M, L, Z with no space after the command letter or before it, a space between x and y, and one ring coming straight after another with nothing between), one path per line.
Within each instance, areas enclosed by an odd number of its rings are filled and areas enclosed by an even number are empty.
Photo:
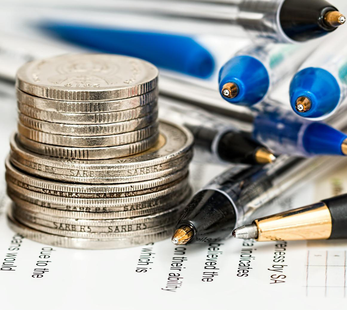
M321 122L310 122L292 111L264 105L254 119L252 136L275 154L299 157L346 156L347 135Z

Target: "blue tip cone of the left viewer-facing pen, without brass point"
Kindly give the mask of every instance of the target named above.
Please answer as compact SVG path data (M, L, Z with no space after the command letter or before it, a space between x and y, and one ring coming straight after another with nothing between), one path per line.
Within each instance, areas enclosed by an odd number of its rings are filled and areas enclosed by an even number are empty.
M222 95L223 85L235 83L238 94L234 98L222 97L241 106L253 106L266 95L270 78L265 66L251 56L236 56L230 59L219 71L219 92Z

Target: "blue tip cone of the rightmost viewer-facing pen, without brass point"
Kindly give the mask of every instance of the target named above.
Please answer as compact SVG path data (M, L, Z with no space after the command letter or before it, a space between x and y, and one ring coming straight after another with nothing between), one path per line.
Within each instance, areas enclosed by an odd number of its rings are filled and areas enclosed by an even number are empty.
M301 117L324 118L338 106L340 93L340 87L331 73L321 68L306 68L299 71L291 82L291 106ZM296 109L297 99L301 96L311 101L311 108L306 112Z

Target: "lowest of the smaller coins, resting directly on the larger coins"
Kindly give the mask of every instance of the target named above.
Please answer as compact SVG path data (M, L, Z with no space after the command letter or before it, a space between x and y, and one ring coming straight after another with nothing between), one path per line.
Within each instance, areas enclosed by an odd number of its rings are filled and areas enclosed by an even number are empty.
M159 133L155 133L147 139L118 146L108 147L66 147L44 144L30 140L18 134L18 142L26 149L45 156L78 159L78 160L108 160L113 158L123 158L139 154L153 147L159 138Z

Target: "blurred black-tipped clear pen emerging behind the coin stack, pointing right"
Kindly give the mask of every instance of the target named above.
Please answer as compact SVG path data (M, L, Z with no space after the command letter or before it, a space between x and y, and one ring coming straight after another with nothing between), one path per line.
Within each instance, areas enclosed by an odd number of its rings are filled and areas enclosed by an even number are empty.
M263 165L276 157L264 145L237 129L231 120L221 119L203 109L160 97L159 117L186 126L194 135L194 147L199 148L204 161L224 161Z

